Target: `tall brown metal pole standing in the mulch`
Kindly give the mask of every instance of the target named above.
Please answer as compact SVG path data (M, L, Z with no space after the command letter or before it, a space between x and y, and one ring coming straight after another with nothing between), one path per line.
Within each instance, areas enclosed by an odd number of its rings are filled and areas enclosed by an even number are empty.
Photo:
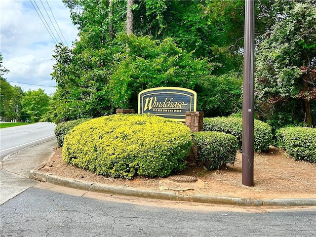
M245 0L242 95L242 184L253 186L254 0Z

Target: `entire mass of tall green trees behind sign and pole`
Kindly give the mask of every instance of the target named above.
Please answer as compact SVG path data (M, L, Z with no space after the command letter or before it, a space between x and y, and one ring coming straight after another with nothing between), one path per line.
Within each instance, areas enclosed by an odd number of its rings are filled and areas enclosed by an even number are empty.
M194 89L206 116L240 110L243 0L63 1L79 40L55 50L56 121L135 109L138 92L154 86ZM255 8L257 117L312 125L315 2L259 0Z

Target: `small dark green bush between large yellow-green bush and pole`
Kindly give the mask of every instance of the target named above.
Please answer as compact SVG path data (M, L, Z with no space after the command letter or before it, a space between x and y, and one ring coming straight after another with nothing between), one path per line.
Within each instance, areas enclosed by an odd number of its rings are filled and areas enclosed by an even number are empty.
M208 169L219 169L227 163L234 165L238 148L235 136L224 132L195 132L193 140L198 147L197 158Z

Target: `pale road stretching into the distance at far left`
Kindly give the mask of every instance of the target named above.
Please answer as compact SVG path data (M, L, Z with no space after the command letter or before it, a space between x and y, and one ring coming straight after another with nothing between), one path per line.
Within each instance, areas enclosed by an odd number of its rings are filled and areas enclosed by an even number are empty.
M55 137L56 125L38 122L28 125L0 129L0 160L21 149L40 144Z

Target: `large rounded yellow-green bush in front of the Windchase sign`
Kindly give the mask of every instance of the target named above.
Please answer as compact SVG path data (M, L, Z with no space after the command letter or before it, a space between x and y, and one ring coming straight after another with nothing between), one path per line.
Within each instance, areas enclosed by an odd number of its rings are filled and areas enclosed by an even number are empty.
M65 136L62 155L96 174L165 177L185 167L191 145L191 131L180 122L118 114L76 126Z

